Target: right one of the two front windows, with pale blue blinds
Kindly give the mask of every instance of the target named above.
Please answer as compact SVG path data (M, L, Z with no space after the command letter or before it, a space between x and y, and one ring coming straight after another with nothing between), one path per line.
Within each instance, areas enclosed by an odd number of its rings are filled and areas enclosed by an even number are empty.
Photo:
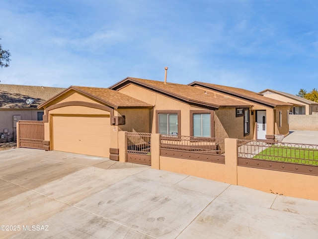
M193 136L211 137L211 114L193 114Z

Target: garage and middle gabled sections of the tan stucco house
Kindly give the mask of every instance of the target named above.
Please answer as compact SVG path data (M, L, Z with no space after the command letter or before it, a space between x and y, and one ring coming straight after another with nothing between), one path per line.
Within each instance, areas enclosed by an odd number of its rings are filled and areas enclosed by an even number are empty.
M112 159L118 131L249 139L251 107L187 85L128 77L109 89L71 86L38 109L50 150Z

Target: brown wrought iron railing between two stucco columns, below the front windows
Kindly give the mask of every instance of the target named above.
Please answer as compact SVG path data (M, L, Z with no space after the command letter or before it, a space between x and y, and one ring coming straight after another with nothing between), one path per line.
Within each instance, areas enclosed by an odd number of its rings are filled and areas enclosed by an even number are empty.
M160 149L224 154L224 138L160 135Z

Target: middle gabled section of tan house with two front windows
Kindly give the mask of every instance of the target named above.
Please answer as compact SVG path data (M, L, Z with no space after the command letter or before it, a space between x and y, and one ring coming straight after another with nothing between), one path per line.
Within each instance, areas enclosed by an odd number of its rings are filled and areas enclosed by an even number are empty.
M110 89L154 106L151 132L250 139L251 104L188 85L127 77ZM237 109L242 109L240 115ZM241 117L242 116L242 117Z

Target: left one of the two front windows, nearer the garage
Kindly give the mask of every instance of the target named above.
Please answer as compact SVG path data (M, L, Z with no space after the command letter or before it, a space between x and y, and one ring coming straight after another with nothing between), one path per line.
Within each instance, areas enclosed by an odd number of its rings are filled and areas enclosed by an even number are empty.
M158 118L159 133L178 135L178 114L159 114Z

